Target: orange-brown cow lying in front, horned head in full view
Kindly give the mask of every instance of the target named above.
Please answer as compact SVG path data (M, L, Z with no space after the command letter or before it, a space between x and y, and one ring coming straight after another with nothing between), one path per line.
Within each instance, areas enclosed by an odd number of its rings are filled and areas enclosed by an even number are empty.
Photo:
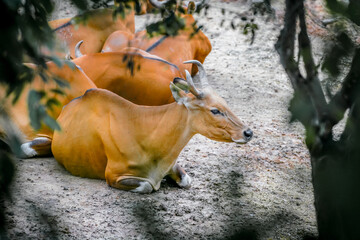
M189 188L191 178L176 159L192 136L244 144L252 131L211 89L201 63L187 63L199 66L203 90L186 71L187 81L170 83L176 103L139 106L103 89L71 101L58 118L63 131L53 137L55 159L73 175L106 179L122 190L150 193L166 175Z

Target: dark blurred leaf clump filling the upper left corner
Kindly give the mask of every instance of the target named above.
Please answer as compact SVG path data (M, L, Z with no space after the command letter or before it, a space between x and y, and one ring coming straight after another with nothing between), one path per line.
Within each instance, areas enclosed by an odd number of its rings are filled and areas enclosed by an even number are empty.
M24 75L30 71L22 64L24 55L46 67L47 57L39 46L54 47L52 30L47 23L53 8L51 1L0 1L0 14L6 19L0 23L0 83L8 85L8 93L19 95L23 83L31 81L31 74Z

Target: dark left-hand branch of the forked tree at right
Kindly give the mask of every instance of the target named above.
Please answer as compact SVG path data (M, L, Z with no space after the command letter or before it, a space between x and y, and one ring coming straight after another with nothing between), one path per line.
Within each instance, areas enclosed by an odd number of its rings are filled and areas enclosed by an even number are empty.
M298 35L299 53L304 61L306 78L299 70L299 63L294 60L294 42L298 17L300 25ZM328 105L312 57L310 39L306 30L303 1L286 1L284 27L275 48L296 93L296 98L293 99L291 106L292 114L305 126L308 133L312 133L308 136L315 137L314 139L307 139L309 149L311 151L319 149L324 140L332 139L332 126L328 121Z

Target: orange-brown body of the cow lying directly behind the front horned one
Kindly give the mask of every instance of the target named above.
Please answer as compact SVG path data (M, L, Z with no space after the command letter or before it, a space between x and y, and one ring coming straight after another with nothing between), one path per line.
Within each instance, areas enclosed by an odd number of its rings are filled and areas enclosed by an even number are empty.
M174 78L182 76L174 64L135 48L88 54L73 62L97 87L140 105L157 106L174 102L169 84Z

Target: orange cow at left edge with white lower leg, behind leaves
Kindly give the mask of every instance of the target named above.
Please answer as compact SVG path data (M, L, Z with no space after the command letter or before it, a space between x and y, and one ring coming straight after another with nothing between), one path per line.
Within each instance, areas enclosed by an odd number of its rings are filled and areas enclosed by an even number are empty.
M35 72L37 71L37 67L34 64L26 65L34 69ZM44 82L40 75L37 74L30 84L25 85L19 100L14 105L10 99L7 99L5 102L11 121L19 128L23 134L23 140L26 142L21 146L25 157L49 155L51 153L50 144L53 134L53 130L46 126L42 126L40 130L35 131L30 125L27 104L28 94L31 89L45 91L49 97L56 98L59 101L59 105L54 106L52 111L49 111L49 115L56 119L65 104L73 98L83 95L87 89L96 87L78 67L72 69L66 64L58 67L54 62L48 62L46 65L46 72L51 77L60 78L69 84L69 88L63 88L65 95L52 91L53 89L59 88L55 81L48 80L48 82ZM2 99L5 97L4 87L0 87L0 96L2 96Z

